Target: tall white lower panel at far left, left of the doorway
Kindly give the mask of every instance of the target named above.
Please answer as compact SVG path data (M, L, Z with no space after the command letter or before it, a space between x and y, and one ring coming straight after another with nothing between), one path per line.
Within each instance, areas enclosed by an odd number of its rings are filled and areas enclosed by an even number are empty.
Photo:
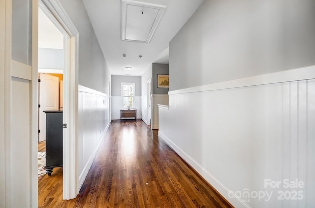
M29 80L12 77L10 137L10 207L31 207L31 84ZM27 194L26 194L27 193Z

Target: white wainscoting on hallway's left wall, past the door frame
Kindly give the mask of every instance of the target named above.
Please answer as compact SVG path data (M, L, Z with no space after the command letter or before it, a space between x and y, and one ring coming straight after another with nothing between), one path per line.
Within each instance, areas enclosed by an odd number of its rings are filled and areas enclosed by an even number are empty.
M79 187L88 174L109 127L109 96L79 86Z

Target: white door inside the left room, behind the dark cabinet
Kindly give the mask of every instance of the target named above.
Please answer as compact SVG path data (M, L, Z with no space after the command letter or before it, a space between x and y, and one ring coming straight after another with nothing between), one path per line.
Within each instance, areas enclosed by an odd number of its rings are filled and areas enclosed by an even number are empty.
M46 140L46 113L44 110L59 110L59 78L40 73L38 84L38 141Z

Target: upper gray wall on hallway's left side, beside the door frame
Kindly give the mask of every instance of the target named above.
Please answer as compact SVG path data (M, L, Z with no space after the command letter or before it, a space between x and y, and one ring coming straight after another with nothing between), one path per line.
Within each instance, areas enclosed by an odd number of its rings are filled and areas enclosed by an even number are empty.
M82 0L60 2L79 32L79 84L108 94L110 72Z

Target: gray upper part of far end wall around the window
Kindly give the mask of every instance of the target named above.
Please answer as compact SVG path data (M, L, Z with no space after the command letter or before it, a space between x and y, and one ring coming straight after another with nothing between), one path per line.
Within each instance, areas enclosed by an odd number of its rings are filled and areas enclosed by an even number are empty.
M122 96L121 83L135 83L135 96L141 96L141 76L112 75L112 96Z

